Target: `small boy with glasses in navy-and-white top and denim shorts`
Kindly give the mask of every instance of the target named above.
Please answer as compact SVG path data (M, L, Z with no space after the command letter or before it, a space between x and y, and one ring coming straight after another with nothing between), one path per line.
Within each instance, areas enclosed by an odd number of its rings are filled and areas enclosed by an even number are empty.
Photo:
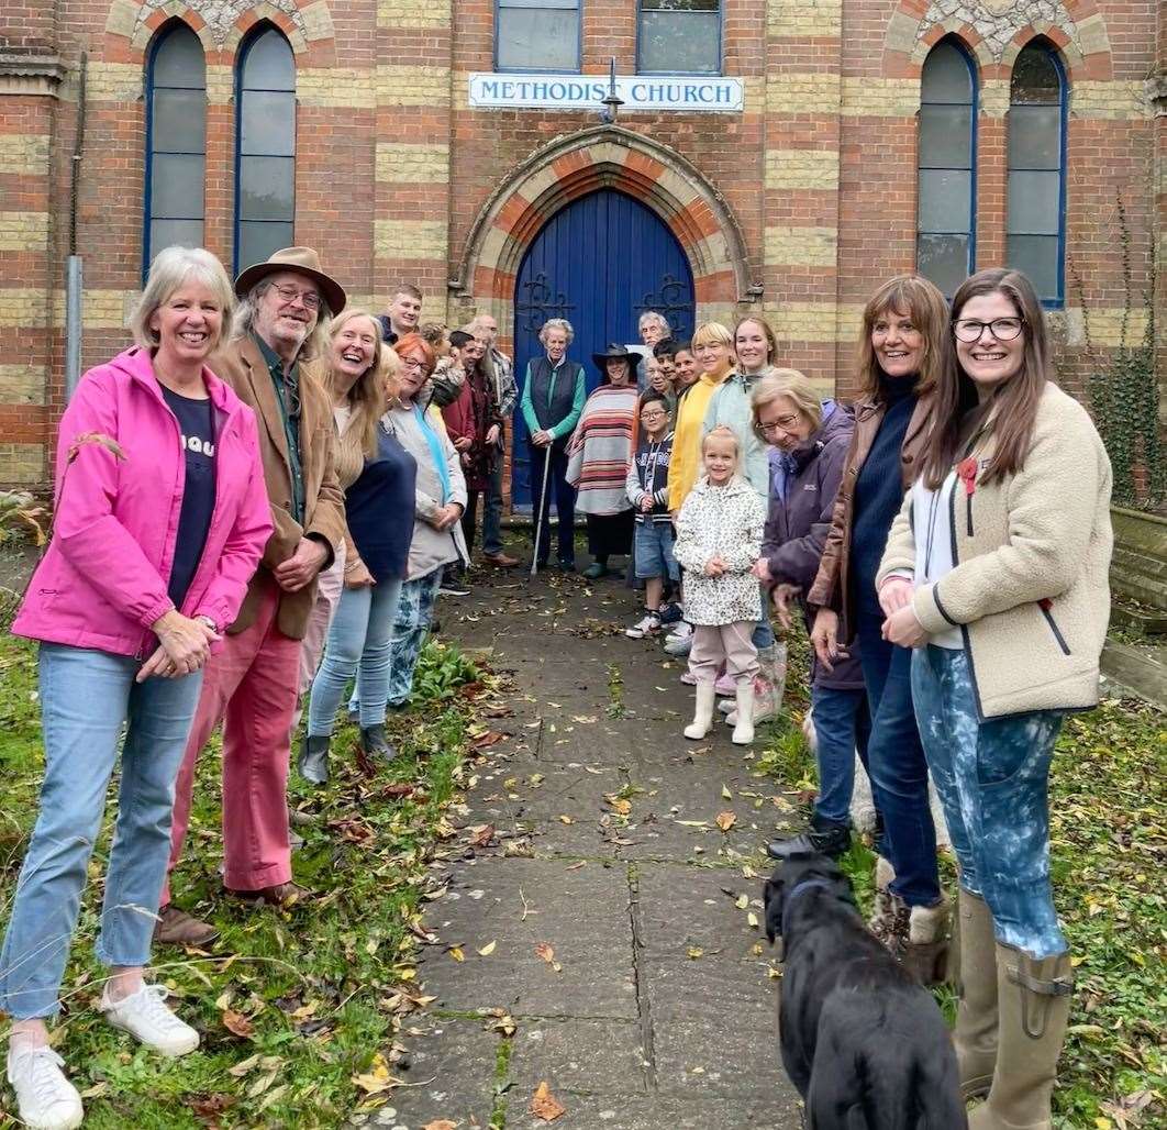
M643 640L661 630L664 580L668 577L676 585L680 579L672 556L673 532L669 517L671 458L669 404L659 392L645 392L640 405L640 444L626 484L635 511L636 577L644 581L645 588L644 615L624 632L630 640Z

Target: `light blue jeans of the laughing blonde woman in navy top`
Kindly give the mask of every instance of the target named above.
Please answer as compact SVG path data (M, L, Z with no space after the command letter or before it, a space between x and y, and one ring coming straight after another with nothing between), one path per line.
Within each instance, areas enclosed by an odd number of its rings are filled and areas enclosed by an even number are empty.
M361 726L384 724L389 699L389 641L400 595L400 580L341 592L336 615L328 629L324 661L313 679L308 699L310 737L331 735L337 707L354 675L357 675Z

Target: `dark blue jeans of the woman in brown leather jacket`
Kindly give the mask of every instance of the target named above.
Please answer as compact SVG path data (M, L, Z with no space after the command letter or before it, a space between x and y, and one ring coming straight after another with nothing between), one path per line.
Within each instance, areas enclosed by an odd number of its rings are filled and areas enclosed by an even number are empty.
M911 651L880 634L882 613L859 613L859 658L872 733L867 766L872 797L883 816L882 855L895 870L890 890L909 906L941 898L936 829L928 805L928 762L911 706Z

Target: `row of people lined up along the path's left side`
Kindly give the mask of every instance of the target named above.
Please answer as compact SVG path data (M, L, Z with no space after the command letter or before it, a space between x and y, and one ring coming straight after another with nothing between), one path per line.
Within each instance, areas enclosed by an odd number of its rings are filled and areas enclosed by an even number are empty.
M223 727L224 894L310 895L292 878L291 745L327 781L342 699L373 762L396 751L443 574L464 567L476 501L498 564L502 419L513 377L494 320L420 325L347 305L309 247L233 282L201 249L154 260L134 344L85 374L60 423L51 539L13 632L39 641L41 805L0 951L21 1119L76 1126L82 1101L47 1021L119 761L97 940L100 1010L163 1055L198 1033L144 976L154 943L215 928L172 901L195 767ZM495 524L491 526L491 515Z

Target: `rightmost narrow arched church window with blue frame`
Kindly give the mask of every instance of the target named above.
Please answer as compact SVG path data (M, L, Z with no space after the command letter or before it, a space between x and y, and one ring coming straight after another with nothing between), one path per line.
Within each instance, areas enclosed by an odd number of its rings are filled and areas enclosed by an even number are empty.
M1065 258L1065 75L1046 44L1030 43L1009 83L1008 245L1046 306L1061 306Z

